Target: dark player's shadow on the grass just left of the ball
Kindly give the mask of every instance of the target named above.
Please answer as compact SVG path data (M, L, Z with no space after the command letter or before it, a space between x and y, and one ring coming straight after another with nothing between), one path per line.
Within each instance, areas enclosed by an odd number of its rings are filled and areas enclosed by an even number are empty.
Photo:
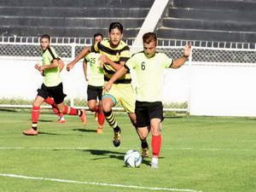
M85 149L85 153L90 153L92 155L99 155L101 157L93 158L92 160L102 160L108 158L114 158L117 160L124 160L125 153L109 150L98 150L98 149Z

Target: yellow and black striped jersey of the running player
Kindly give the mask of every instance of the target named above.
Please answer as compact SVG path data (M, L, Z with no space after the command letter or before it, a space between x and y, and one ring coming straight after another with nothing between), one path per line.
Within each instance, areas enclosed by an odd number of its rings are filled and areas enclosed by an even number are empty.
M127 61L130 58L130 49L124 41L120 41L119 45L115 48L110 46L110 42L108 39L104 39L101 42L98 42L92 45L91 50L102 55L107 55L108 58L116 63L120 63L120 61ZM108 63L104 63L104 80L108 81L115 73L113 67L108 65ZM123 75L117 81L116 84L129 84L131 83L131 74L130 72Z

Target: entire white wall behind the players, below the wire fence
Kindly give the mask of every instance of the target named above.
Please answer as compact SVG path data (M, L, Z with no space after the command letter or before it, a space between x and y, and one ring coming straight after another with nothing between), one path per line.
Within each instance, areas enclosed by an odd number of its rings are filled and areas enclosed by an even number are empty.
M36 96L43 80L34 69L40 58L27 58L0 58L0 99L32 100ZM71 72L64 69L61 78L67 99L87 99L81 62ZM166 70L163 102L188 102L191 115L256 116L255 82L253 63L188 62L179 69Z

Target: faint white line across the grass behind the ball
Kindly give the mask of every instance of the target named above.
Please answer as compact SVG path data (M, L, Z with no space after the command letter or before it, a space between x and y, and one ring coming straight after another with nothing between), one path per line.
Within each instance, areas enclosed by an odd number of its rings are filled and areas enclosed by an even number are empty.
M131 148L41 148L41 147L0 147L0 150L34 149L34 150L115 150ZM196 151L255 151L253 148L162 148L162 150L196 150Z

